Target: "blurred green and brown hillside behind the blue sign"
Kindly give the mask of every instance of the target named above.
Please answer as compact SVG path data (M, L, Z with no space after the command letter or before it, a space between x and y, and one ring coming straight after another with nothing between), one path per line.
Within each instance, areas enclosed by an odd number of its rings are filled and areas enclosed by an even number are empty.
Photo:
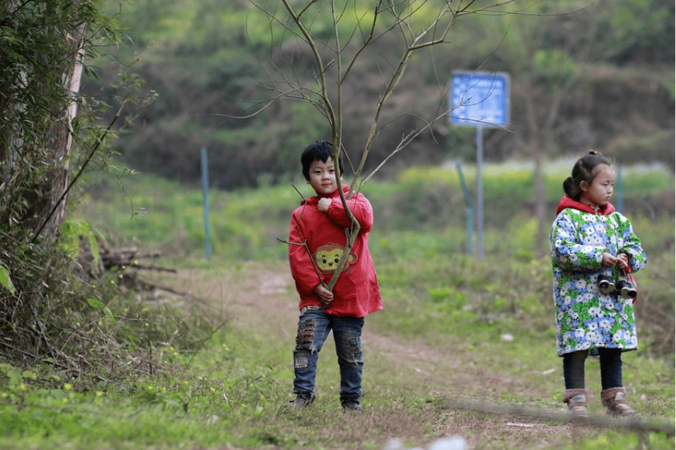
M546 11L537 7L528 10L532 14L459 18L453 43L416 54L385 110L387 126L370 163L389 153L402 130L419 126L417 117L445 108L450 75L462 69L511 75L512 123L486 134L486 161L528 160L539 145L550 159L594 148L623 164L658 161L673 170L673 2L557 1ZM429 14L434 11L429 8ZM293 179L298 151L330 136L324 117L304 103L277 100L259 115L228 117L250 115L267 103L276 69L291 69L298 81L312 85L307 50L291 33L274 35L264 13L249 1L139 0L124 6L120 19L129 27L129 47L117 57L138 57L142 64L127 73L145 79L142 95L156 94L151 106L135 112L134 132L122 134L116 144L128 166L197 184L200 149L206 147L212 185L255 188ZM317 34L322 20L317 16ZM348 22L344 33L350 32ZM394 37L379 41L346 86L343 142L353 158L366 140L383 62L397 45ZM84 90L115 96L101 86L120 71L118 63L106 59L94 65L100 81L88 79ZM544 129L535 121L550 114L556 96L560 107ZM379 175L449 159L472 162L475 154L474 129L441 120Z

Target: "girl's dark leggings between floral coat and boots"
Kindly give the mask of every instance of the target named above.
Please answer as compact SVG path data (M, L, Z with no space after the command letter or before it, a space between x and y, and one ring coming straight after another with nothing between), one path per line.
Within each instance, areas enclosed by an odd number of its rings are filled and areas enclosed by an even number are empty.
M564 380L566 389L585 388L585 359L588 350L564 354ZM622 350L619 348L598 348L601 364L601 388L622 387Z

